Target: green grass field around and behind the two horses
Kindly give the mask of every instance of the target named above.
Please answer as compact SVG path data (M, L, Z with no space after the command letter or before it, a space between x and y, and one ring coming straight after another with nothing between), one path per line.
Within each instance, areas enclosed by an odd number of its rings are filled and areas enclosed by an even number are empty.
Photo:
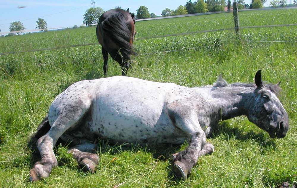
M240 26L297 23L297 9L239 12ZM234 27L232 13L140 21L137 38ZM297 181L297 26L242 29L135 40L139 56L128 76L193 87L212 84L222 74L229 83L281 81L280 99L290 129L282 139L237 117L219 124L210 138L215 151L198 159L189 179L178 181L170 154L187 146L98 147L95 174L77 168L67 147L55 149L58 167L45 180L30 183L39 159L27 140L47 114L53 99L72 83L103 77L99 45L0 55L0 187L278 187ZM271 42L287 41L287 42ZM0 53L97 42L95 27L0 38ZM193 49L188 49L193 48ZM176 50L172 52L163 52ZM121 75L109 60L108 76ZM295 181L295 182L294 182Z

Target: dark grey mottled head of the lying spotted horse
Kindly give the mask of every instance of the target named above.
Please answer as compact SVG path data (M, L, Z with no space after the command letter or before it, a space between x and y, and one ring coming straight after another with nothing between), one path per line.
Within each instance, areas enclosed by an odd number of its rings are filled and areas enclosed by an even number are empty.
M271 138L284 138L289 129L289 118L277 95L278 84L264 84L261 70L255 75L256 89L249 102L249 121L269 133Z

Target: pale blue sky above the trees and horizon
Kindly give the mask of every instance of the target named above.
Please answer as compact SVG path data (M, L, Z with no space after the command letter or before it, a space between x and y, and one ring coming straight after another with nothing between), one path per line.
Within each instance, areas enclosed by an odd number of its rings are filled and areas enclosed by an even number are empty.
M105 11L119 6L122 9L129 8L130 12L136 13L140 6L146 6L149 12L155 13L158 16L161 16L161 12L165 8L176 10L179 5L184 6L187 3L187 0L94 1L96 2L96 7L101 7ZM15 21L23 23L23 26L26 28L25 32L34 32L38 18L43 18L47 22L48 29L73 27L74 25L80 26L83 24L83 15L86 10L93 7L91 2L92 0L1 0L1 34L6 35L9 32L10 23ZM268 6L268 2L264 6ZM245 0L245 3L250 4L251 0Z

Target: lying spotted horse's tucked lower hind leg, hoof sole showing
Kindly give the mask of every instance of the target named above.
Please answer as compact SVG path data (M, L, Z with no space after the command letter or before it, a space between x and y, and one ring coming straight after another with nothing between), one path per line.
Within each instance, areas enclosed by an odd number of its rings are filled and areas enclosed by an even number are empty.
M99 161L99 156L94 154L96 148L97 144L84 142L74 146L68 152L76 159L81 170L93 174Z

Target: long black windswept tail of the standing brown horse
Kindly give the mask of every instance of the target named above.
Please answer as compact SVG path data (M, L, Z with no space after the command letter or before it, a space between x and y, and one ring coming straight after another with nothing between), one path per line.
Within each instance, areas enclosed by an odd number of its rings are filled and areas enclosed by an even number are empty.
M132 30L134 30L134 28L132 28ZM120 47L121 53L124 53L124 56L137 55L135 48L130 44L131 36L134 31L130 30L126 17L122 12L117 12L102 22L102 33L103 32Z

